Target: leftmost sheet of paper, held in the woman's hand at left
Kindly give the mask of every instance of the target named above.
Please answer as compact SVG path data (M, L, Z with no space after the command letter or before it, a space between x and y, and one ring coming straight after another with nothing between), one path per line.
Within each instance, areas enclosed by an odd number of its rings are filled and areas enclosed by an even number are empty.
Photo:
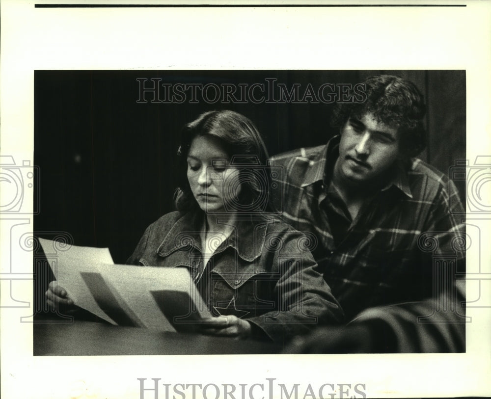
M72 245L66 251L53 254L52 240L39 238L39 243L57 284L66 290L74 303L111 324L117 324L99 307L81 274L81 271L98 272L100 264L113 264L109 249Z

